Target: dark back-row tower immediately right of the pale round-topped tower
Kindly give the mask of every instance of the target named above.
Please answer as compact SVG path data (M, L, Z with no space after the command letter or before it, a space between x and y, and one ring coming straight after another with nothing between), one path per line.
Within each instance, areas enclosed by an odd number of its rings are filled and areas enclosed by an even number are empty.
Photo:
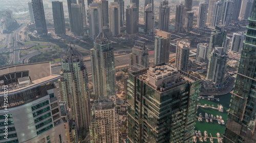
M136 37L138 33L138 21L136 19L137 8L133 5L127 6L126 9L126 33L128 35L134 35Z

